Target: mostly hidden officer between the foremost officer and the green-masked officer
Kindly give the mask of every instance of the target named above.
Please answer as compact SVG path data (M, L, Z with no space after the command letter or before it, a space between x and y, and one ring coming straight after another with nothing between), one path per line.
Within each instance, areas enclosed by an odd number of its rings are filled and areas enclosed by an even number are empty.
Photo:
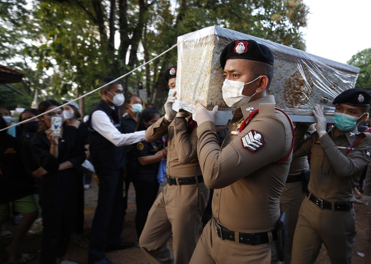
M314 131L314 126L309 126L303 140ZM286 214L288 231L285 264L290 264L291 261L292 239L294 237L296 222L298 222L299 209L308 189L308 182L305 179L305 174L309 175L308 157L302 156L292 159L289 175L280 197L280 208L281 211Z

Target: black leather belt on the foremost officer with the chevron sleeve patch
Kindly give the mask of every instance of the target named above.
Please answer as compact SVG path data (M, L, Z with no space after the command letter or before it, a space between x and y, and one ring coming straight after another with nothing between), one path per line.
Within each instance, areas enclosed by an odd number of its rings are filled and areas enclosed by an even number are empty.
M234 231L229 230L226 227L223 227L223 225L218 224L216 219L214 218L214 223L215 223L215 229L218 234L218 237L221 239L226 239L230 241L236 241L234 238ZM272 239L275 241L277 239L277 229L272 230ZM252 233L252 234L247 234L247 233L238 233L239 234L239 242L241 244L247 244L247 245L259 245L259 244L267 244L269 243L269 236L268 232L263 232L263 233Z

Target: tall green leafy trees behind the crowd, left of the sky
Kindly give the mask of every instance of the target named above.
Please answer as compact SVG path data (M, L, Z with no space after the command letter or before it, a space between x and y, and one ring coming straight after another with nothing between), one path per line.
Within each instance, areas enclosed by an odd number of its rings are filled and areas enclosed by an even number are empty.
M25 72L22 89L30 96L40 90L41 99L89 92L101 77L124 75L171 47L177 36L214 24L305 50L300 28L306 26L308 7L302 0L1 3L0 63ZM137 93L143 82L147 99L161 107L168 90L163 72L176 62L173 49L126 77L125 92Z

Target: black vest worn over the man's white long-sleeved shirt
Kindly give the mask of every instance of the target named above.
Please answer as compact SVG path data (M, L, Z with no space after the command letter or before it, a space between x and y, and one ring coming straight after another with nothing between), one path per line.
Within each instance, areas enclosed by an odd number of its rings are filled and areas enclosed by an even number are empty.
M121 132L118 108L112 109L102 99L90 113L88 123L90 137L90 157L96 172L111 172L122 168L125 165L126 150L124 146L117 147L104 136L96 132L91 126L92 115L95 111L101 110L106 113L115 128Z

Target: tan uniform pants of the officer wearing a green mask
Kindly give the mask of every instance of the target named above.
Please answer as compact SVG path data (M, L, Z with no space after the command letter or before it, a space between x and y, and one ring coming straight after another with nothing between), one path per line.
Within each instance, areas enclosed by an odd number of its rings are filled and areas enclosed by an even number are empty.
M314 263L323 242L331 263L349 264L355 234L354 208L350 212L320 209L305 197L296 224L291 263Z

